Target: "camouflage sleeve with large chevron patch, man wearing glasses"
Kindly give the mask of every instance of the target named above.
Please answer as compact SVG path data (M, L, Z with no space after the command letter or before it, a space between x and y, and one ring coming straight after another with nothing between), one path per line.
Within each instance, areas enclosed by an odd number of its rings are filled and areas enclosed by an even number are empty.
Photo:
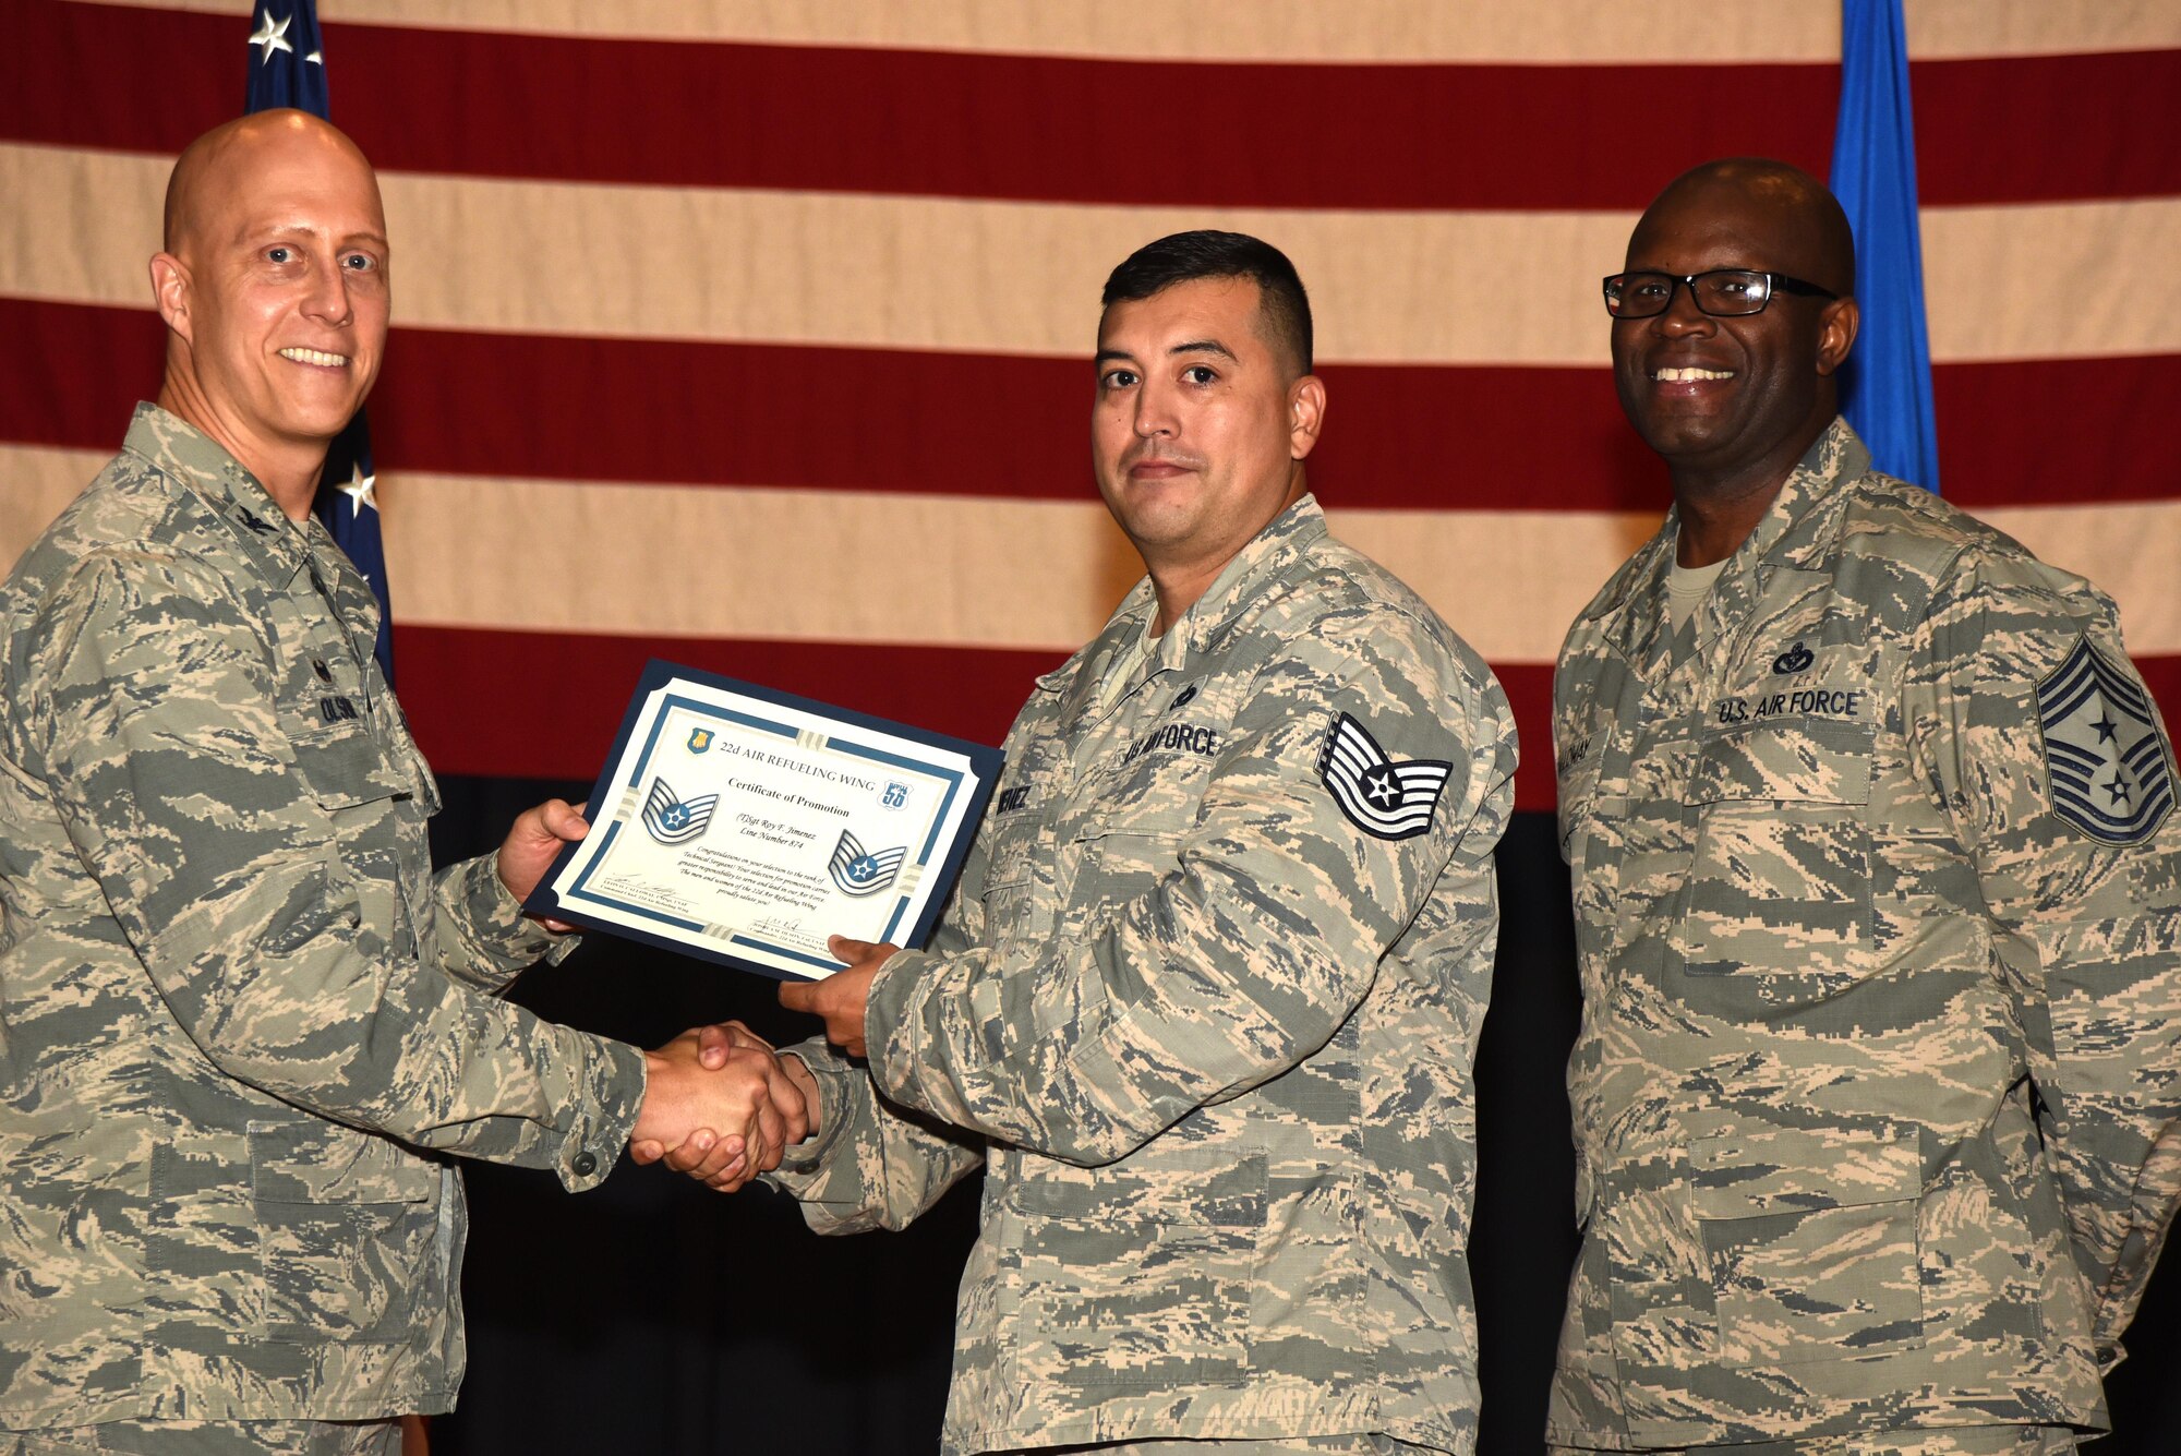
M2105 687L2085 700L2098 674ZM1911 748L1976 865L2109 1367L2181 1203L2181 817L2170 811L2170 739L2102 593L1978 549L1956 562L1921 626L1904 700ZM2111 798L2098 793L2105 774L2092 774L2092 796L2081 778L2070 789L2065 739L2083 737L2070 717L2098 717L2085 702L2116 704L2094 724L2102 735L2085 741L2111 737L2118 719L2116 761L2129 739L2140 750L2140 806L2161 782L2168 809L2100 822L2089 798ZM2124 702L2142 704L2133 732Z

